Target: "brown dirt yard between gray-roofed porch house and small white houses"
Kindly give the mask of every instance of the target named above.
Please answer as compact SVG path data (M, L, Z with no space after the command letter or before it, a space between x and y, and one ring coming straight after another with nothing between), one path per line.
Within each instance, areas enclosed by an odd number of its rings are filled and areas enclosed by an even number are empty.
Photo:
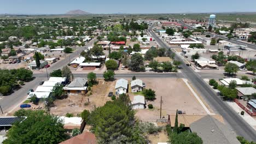
M76 116L78 113L87 109L92 111L95 107L103 106L106 101L111 100L107 96L109 89L113 89L115 82L105 82L104 80L98 80L98 85L92 87L91 91L88 93L92 93L90 96L84 95L72 95L69 94L68 98L63 100L56 100L55 107L51 108L51 113L59 116L65 116L66 113L73 113ZM88 101L89 105L84 105Z

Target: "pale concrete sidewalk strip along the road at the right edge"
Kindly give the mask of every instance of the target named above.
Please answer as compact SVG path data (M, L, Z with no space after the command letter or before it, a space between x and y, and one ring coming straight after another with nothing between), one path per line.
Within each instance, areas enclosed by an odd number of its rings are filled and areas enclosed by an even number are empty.
M240 114L241 111L245 111L245 110L241 109L241 107L238 106L235 102L225 101L225 103L228 104L230 107L232 107L232 109L235 112L237 112L237 115L242 117L249 125L251 125L256 130L256 120L253 117L251 117L250 115L248 115L248 113L246 113L246 112L245 112L244 116L242 116Z

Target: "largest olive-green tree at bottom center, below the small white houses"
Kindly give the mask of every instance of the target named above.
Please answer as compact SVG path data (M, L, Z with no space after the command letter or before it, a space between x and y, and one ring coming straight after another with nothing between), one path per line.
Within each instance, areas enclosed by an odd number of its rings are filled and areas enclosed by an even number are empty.
M121 100L107 101L104 106L92 111L89 124L95 130L100 143L109 143L119 136L130 137L134 112Z

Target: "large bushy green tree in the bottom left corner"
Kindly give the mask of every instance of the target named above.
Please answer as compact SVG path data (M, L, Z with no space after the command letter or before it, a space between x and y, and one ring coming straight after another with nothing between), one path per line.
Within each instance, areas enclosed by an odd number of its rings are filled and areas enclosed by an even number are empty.
M21 123L14 123L3 143L60 143L68 136L63 128L63 121L45 114L42 110L29 111ZM29 137L29 138L28 138Z

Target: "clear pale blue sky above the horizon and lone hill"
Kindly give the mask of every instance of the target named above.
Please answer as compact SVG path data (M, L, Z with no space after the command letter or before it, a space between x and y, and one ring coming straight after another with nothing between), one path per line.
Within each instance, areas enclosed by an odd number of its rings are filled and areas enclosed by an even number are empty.
M0 14L63 14L81 9L112 13L218 13L256 11L256 0L0 0Z

